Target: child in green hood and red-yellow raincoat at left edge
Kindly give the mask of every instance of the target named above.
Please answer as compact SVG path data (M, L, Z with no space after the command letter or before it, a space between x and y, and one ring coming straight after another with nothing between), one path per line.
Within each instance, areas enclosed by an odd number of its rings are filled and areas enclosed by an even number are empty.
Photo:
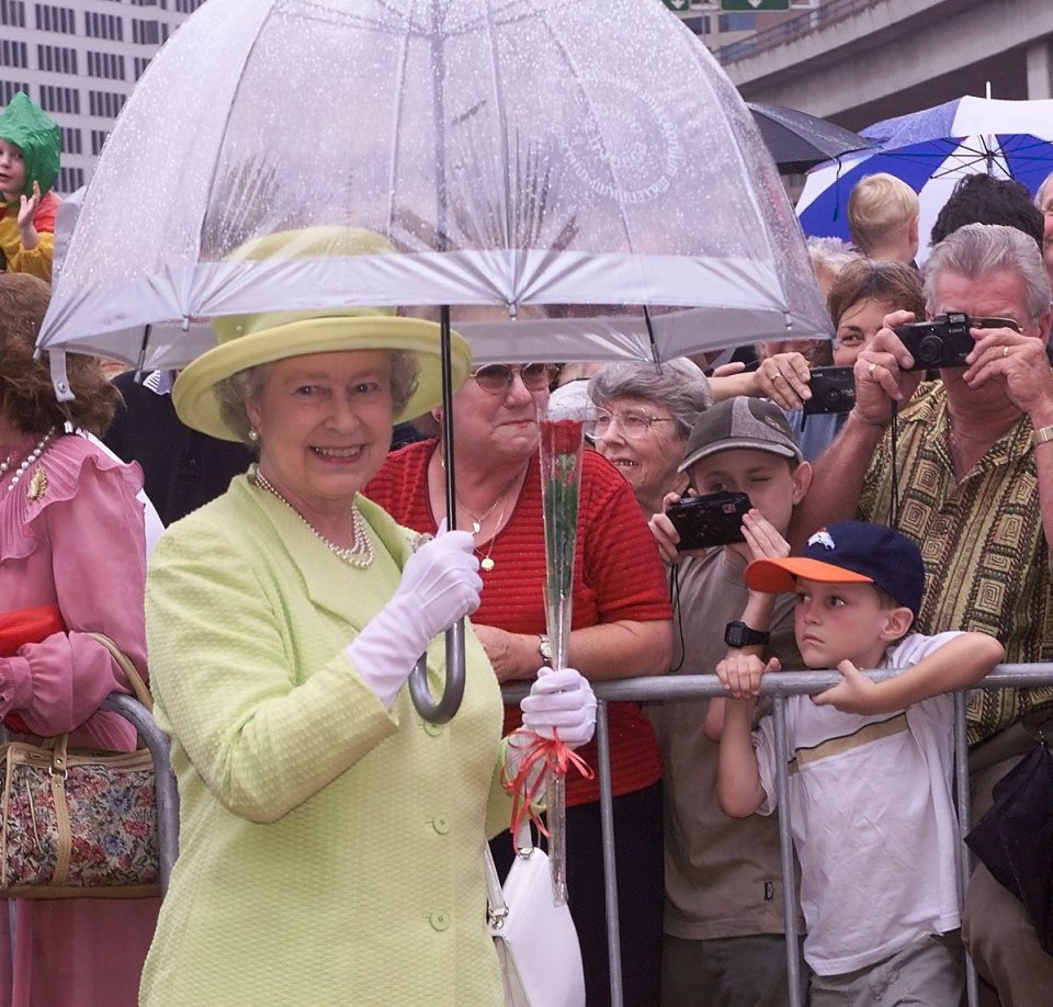
M0 269L52 282L63 134L23 91L0 112Z

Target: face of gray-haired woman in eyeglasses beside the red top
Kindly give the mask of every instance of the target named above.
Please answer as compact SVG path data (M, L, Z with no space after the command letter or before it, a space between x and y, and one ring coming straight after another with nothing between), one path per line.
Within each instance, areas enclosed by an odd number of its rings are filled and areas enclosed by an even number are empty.
M610 420L596 438L596 450L630 482L645 513L661 510L663 496L681 491L686 482L677 472L687 445L680 425L665 406L635 396L607 399L598 408ZM629 419L629 431L623 419ZM634 432L636 420L655 421Z

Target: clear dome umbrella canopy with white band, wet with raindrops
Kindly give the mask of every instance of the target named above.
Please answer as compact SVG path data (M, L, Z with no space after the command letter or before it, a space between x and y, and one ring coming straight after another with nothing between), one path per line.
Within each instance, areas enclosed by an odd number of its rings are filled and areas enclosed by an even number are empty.
M404 253L227 260L317 224ZM150 366L147 325L366 304L497 308L458 326L479 360L829 332L749 112L660 4L203 5L106 143L39 346Z

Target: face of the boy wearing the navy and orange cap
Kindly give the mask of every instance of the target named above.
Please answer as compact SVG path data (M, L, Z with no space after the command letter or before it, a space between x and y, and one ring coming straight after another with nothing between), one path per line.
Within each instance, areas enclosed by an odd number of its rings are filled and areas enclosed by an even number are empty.
M836 668L846 659L858 668L876 668L910 622L910 610L883 607L872 584L797 578L794 634L809 668Z

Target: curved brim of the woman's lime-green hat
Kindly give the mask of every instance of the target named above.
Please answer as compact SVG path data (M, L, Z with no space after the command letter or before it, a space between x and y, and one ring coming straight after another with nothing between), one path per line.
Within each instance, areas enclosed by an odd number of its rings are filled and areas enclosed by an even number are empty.
M172 388L172 404L188 427L224 441L240 441L239 432L219 410L219 382L248 367L290 357L344 350L403 350L416 357L417 389L395 416L395 422L422 416L442 401L440 327L422 318L369 315L301 319L220 343L183 370ZM472 369L472 352L463 337L452 330L450 355L451 392L456 392Z

